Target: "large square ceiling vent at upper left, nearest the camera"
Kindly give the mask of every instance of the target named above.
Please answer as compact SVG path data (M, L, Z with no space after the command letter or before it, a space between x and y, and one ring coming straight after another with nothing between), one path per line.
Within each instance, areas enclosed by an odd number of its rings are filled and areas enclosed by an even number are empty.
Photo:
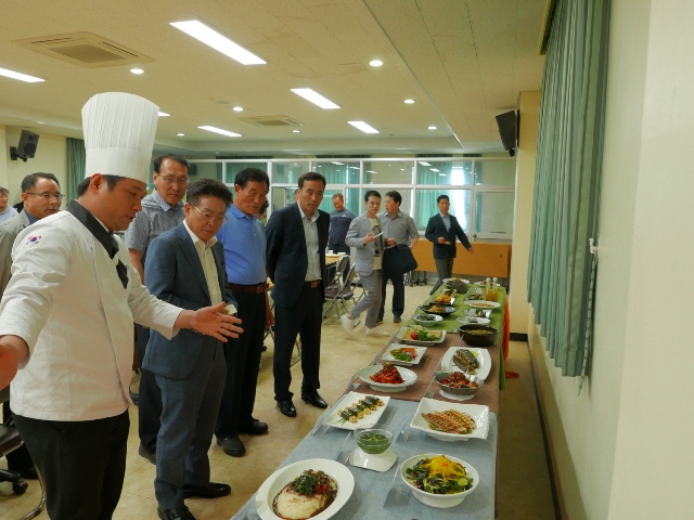
M70 32L24 40L14 43L80 67L113 67L153 62L149 56L91 32Z

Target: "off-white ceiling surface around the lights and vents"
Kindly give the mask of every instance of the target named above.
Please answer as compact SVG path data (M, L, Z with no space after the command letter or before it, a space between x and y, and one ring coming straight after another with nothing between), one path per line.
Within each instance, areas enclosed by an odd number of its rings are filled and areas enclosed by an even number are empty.
M494 116L539 90L551 0L2 0L0 125L81 136L93 94L124 91L157 103L157 148L182 154L313 155L503 152ZM266 65L244 66L169 25L200 20ZM150 56L86 68L16 42L88 31ZM380 68L371 60L384 62ZM312 88L340 108L292 93ZM406 105L403 100L415 100ZM244 112L232 112L241 105ZM240 117L286 116L264 128ZM347 123L364 120L381 133ZM42 123L39 123L41 121ZM220 127L241 138L197 129ZM428 126L437 130L427 130ZM185 136L176 136L178 132Z

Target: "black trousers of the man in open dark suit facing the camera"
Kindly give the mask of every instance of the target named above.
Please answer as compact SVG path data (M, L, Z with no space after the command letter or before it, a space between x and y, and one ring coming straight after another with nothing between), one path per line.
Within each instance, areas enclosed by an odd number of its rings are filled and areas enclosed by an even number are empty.
M274 399L292 399L292 350L296 336L301 335L301 393L312 393L320 388L321 325L323 288L321 284L310 288L304 284L294 307L274 306Z

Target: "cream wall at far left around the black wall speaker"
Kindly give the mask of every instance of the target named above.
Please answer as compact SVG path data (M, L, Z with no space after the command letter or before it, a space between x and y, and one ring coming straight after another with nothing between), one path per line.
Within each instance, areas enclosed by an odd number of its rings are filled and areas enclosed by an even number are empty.
M39 142L36 147L36 157L27 159L10 159L10 146L16 146L20 142L22 129L0 126L0 185L10 190L10 204L14 205L21 200L22 191L20 188L22 179L29 173L42 171L53 173L63 193L66 191L67 182L67 150L66 138L50 133L39 133Z

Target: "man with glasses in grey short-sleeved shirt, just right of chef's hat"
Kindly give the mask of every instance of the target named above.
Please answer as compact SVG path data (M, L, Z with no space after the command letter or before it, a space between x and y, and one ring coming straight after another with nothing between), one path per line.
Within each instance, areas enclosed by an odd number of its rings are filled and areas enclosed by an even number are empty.
M176 227L185 218L183 197L188 190L190 168L188 161L178 155L163 155L154 159L154 192L142 199L142 211L138 213L128 230L125 242L130 252L132 265L140 273L142 284L149 287L144 277L144 264L147 247L162 233ZM138 360L140 366L146 350L149 330L136 326ZM134 398L134 396L133 396ZM140 370L140 390L138 395L140 435L139 453L155 464L156 438L159 432L162 415L162 394L154 375L146 369Z

